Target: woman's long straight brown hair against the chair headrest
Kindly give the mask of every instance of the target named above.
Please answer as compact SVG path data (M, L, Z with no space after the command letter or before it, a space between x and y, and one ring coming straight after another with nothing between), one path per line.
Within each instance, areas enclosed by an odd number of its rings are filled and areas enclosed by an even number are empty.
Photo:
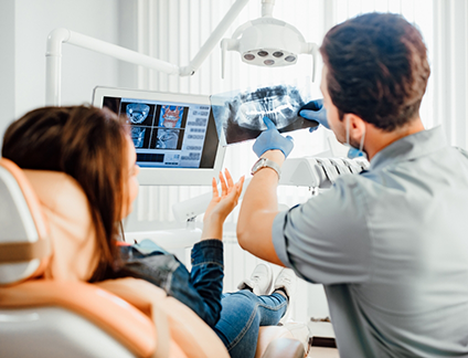
M83 188L96 228L99 281L116 256L120 234L127 126L113 112L92 106L43 107L13 122L3 138L2 156L20 168L62 171Z

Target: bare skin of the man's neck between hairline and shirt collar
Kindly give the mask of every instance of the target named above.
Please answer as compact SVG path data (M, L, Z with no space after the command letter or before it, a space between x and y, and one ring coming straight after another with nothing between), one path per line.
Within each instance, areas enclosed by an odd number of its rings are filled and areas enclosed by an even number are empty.
M392 143L422 130L424 130L424 125L419 117L414 118L407 125L392 131L384 131L373 125L368 126L365 129L364 147L369 160Z

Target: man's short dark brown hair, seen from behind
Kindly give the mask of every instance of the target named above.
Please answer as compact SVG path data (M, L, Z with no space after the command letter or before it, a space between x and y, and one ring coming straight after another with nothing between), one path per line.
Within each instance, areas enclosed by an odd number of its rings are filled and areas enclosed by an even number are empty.
M340 23L320 53L340 119L352 113L392 131L418 114L430 69L419 31L402 15L366 13Z

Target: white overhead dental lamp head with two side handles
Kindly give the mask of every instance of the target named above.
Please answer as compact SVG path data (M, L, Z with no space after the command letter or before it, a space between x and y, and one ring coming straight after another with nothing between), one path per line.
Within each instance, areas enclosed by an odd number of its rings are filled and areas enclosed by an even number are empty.
M262 18L238 27L232 39L221 41L222 77L226 51L237 51L247 64L265 67L280 67L297 63L301 53L313 56L312 81L316 75L318 45L306 42L292 25L272 17L275 0L262 0Z

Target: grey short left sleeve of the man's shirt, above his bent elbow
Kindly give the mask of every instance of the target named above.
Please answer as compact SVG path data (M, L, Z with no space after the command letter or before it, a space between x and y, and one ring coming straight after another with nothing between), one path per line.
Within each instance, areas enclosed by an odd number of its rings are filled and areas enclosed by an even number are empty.
M369 280L372 245L362 180L340 177L329 190L276 215L275 251L304 280L326 285Z

